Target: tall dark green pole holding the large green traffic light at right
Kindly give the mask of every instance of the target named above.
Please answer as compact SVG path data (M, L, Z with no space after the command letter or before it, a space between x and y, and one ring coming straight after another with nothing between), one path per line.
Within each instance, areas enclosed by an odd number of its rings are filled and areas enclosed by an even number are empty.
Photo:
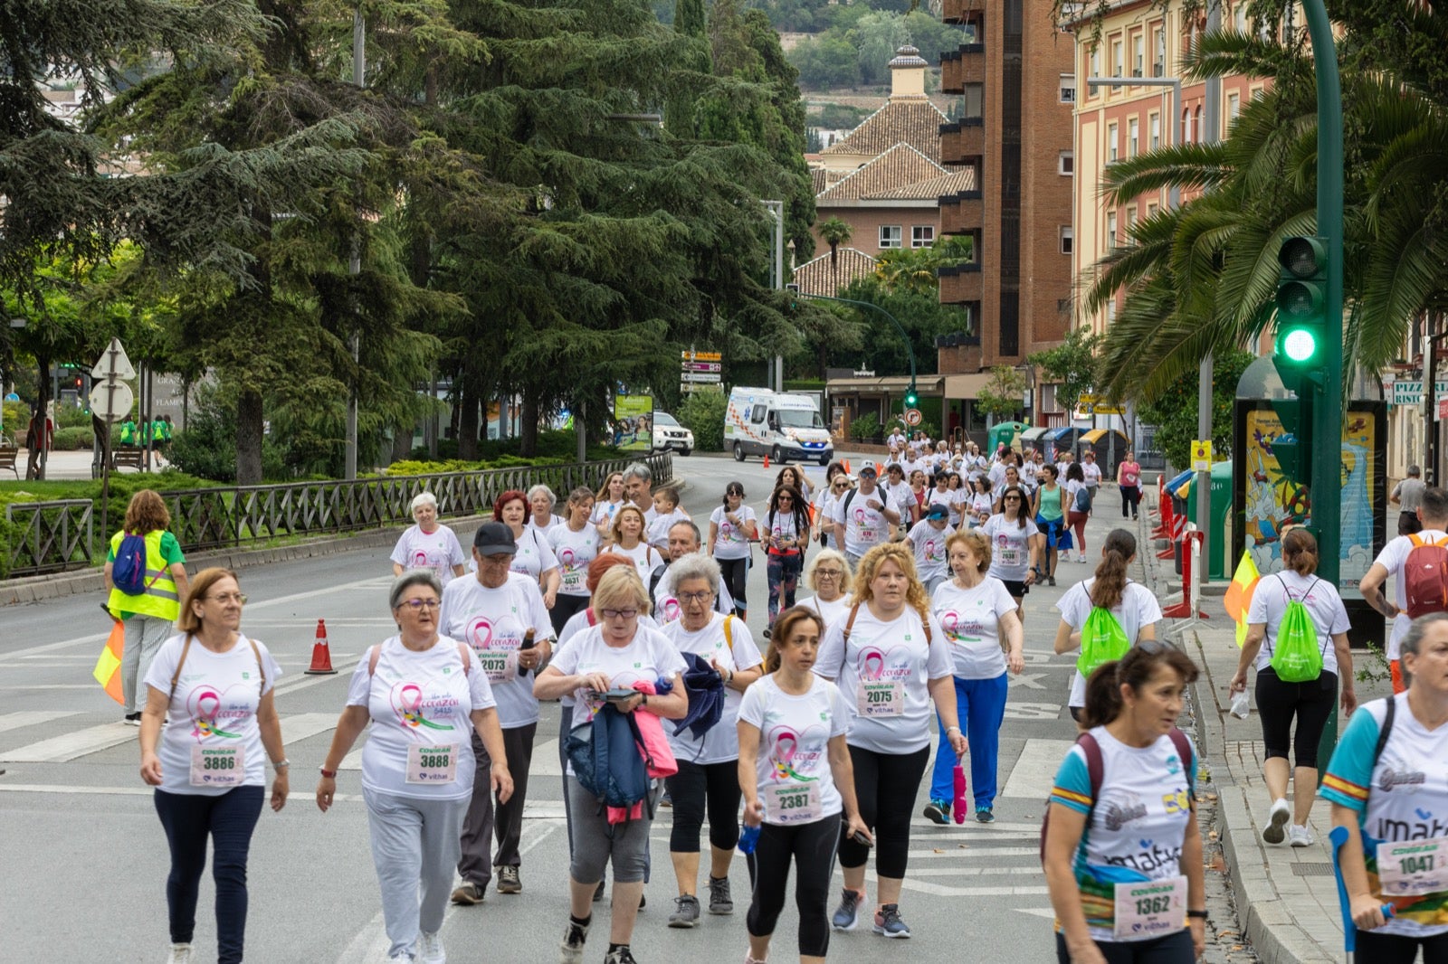
M1302 6L1318 78L1318 236L1328 242L1326 371L1312 411L1312 523L1319 549L1318 576L1337 586L1342 554L1342 85L1323 1L1305 0ZM1432 385L1425 385L1423 392L1432 395ZM1318 750L1323 764L1337 741L1334 703Z

